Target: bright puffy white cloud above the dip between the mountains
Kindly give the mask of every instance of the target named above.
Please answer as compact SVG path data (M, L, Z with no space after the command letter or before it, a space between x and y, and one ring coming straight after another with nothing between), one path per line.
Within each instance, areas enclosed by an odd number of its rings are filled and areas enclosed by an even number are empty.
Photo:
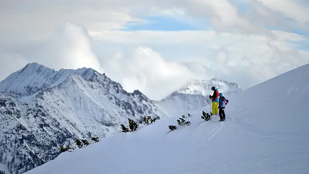
M117 53L114 58L107 59L104 65L106 74L120 82L124 89L129 92L139 89L156 100L199 76L182 64L164 60L158 52L147 47L138 47L132 57Z

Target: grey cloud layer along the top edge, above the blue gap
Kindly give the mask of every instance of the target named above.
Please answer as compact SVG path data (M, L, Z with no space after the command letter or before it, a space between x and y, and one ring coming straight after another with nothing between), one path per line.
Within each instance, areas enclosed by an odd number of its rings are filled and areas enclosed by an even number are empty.
M144 23L142 18L158 15L168 15L201 29L209 27L204 22L207 19L217 32L241 34L271 34L265 27L309 27L306 5L299 5L296 0L282 0L280 4L269 0L53 0L53 3L30 0L19 5L2 0L0 3L0 16L5 17L0 18L0 36L6 41L40 39L67 22L100 32L123 29L128 22Z

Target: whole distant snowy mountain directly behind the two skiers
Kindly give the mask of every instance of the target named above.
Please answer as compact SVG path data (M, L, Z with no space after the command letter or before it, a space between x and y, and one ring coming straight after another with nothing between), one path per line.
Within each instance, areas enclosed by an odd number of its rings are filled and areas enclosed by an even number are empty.
M219 92L223 93L224 96L242 91L242 88L238 84L222 79L194 79L157 103L163 110L169 112L170 115L179 115L211 104L208 96L213 94L211 90L212 86L217 87Z

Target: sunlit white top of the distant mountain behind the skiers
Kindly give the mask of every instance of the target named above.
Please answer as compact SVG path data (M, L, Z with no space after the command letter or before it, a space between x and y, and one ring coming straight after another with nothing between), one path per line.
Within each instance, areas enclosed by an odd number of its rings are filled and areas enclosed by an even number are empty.
M208 96L209 94L213 93L213 91L211 90L212 86L217 87L219 91L223 93L225 96L242 91L242 88L236 83L231 83L225 80L212 78L210 80L192 80L183 87L181 87L180 89L178 89L176 93L198 94Z

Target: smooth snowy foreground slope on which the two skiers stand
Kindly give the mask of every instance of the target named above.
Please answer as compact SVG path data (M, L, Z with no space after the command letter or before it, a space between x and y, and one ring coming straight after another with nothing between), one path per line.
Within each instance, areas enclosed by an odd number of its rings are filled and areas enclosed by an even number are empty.
M307 174L309 64L231 95L225 122L176 118L65 152L26 174ZM218 117L215 118L218 121Z

